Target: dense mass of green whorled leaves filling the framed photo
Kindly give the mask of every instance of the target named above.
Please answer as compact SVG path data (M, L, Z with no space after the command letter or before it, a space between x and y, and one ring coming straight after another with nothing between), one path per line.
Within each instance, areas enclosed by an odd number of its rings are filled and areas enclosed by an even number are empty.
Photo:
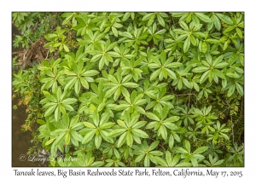
M243 13L13 13L13 23L14 46L47 40L13 89L49 165L244 165Z

